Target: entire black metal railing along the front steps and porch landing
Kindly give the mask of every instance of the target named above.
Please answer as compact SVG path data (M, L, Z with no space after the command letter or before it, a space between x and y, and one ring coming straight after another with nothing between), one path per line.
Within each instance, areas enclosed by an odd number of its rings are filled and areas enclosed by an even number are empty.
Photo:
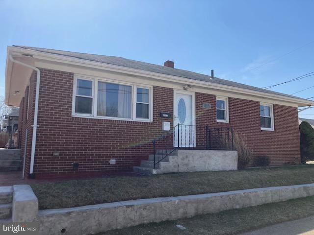
M153 142L154 169L156 165L177 149L234 150L232 127L220 128L178 124L169 134L162 135ZM196 133L198 143L196 144ZM171 146L171 147L170 147Z

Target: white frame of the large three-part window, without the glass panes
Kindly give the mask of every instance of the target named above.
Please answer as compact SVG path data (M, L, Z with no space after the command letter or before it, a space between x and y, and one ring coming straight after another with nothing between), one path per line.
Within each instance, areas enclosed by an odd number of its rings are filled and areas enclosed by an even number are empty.
M78 114L75 113L75 98L77 94L77 80L90 80L92 81L92 114ZM98 101L98 82L107 82L107 83L114 83L118 85L125 85L131 86L131 118L116 118L116 117L104 117L97 115L97 101ZM149 119L146 118L136 118L136 90L138 88L145 88L149 89ZM125 81L116 81L109 78L103 77L94 77L94 76L86 76L86 75L78 75L74 76L73 82L73 95L72 95L72 117L80 117L80 118L96 118L96 119L110 119L110 120L126 120L126 121L142 121L142 122L153 122L153 86L143 85L143 84L136 84L136 83L129 83ZM89 97L89 96L86 96Z

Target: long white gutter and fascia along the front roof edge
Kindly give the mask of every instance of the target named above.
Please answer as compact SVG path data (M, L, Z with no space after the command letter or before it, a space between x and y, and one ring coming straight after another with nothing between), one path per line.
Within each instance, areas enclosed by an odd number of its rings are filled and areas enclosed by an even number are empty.
M189 78L172 76L172 75L167 75L167 74L162 74L162 73L157 73L157 72L132 69L132 68L123 67L123 66L105 64L105 63L101 63L101 62L94 62L94 61L78 59L78 58L73 58L73 57L64 56L64 55L55 55L55 54L51 54L51 53L47 53L47 52L40 52L40 51L36 51L36 50L31 50L31 49L24 49L21 47L8 47L8 50L9 49L12 51L15 51L15 52L19 52L19 53L27 53L27 54L31 53L33 55L33 58L40 59L40 60L48 60L48 61L53 61L53 62L72 64L72 65L95 68L95 69L100 69L100 70L115 71L115 72L120 72L120 73L122 72L122 73L127 73L127 74L138 75L138 76L146 76L146 77L151 77L151 78L164 80L164 81L171 81L171 82L175 82L175 83L188 84L188 85L192 85L192 86L200 86L203 88L211 88L211 89L217 89L217 90L222 90L222 91L227 91L227 92L232 92L232 93L240 93L240 94L260 96L262 98L266 97L269 99L291 102L293 104L297 104L297 106L299 106L299 107L314 105L314 101L305 100L302 98L299 99L299 98L292 98L292 97L278 95L278 94L268 94L268 93L263 93L263 92L258 92L258 91L252 91L249 89L243 89L243 88L237 88L237 87L232 87L232 86L227 86L227 85L221 85L221 84L217 84L217 83L210 83L209 84L209 82L205 82L205 81L193 80L193 79L189 79ZM292 105L292 106L294 106L294 105Z

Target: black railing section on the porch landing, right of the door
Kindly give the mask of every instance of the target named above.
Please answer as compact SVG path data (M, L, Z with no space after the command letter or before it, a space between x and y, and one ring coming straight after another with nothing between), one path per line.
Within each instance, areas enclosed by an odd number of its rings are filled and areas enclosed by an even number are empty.
M209 150L234 150L234 129L232 127L206 126L206 148Z

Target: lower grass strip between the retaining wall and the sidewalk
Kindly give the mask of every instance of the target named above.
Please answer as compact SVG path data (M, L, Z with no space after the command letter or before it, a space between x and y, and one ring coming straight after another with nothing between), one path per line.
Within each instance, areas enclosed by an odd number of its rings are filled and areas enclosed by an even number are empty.
M314 196L311 196L192 218L144 224L98 235L231 235L313 215ZM186 229L181 230L176 225L182 225Z

